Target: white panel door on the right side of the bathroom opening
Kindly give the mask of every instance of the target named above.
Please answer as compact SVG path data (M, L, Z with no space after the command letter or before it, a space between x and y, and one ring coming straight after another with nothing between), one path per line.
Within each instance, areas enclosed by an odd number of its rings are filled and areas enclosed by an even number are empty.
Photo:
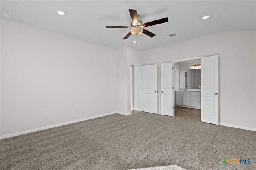
M201 58L201 121L219 125L218 55Z

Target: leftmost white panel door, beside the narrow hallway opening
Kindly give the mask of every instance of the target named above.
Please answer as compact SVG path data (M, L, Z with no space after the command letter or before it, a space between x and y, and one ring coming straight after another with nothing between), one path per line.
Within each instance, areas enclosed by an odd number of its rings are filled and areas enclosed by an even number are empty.
M158 113L157 64L142 66L142 111Z

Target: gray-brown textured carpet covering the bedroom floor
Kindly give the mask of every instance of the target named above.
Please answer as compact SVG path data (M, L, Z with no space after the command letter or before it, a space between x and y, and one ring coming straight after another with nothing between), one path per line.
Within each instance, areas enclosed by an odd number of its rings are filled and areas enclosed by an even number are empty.
M144 112L108 115L0 144L2 170L256 169L256 132ZM223 158L251 163L225 165Z

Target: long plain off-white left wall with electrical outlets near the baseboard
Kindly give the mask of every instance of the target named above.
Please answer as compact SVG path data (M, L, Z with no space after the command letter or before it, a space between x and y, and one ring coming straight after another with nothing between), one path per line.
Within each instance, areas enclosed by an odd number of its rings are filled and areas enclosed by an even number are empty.
M116 49L1 19L1 135L114 111Z

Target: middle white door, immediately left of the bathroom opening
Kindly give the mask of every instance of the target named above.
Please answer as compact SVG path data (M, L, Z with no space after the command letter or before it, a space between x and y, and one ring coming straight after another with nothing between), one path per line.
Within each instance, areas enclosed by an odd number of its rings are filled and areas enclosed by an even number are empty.
M161 115L173 116L172 63L161 64Z

